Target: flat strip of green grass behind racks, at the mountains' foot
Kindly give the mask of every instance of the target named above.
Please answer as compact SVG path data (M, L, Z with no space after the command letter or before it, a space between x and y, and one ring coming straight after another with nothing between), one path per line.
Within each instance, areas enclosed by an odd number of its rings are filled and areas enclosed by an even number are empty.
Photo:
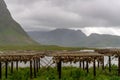
M55 45L7 45L7 46L0 46L0 50L39 50L39 51L46 51L46 50L81 50L87 48L80 48L80 47L60 47ZM89 48L88 48L89 49Z

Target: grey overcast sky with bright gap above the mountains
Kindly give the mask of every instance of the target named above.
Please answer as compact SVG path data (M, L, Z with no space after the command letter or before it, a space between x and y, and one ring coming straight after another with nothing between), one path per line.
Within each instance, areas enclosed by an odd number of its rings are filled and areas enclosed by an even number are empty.
M120 35L120 0L5 0L13 18L28 30L82 29Z

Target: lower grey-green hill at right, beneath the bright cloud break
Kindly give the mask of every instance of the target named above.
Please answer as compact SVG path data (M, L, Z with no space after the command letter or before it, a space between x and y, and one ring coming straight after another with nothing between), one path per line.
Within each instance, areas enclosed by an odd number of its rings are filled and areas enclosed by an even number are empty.
M98 47L120 47L120 36L108 34L91 34L88 37L88 40L88 45Z

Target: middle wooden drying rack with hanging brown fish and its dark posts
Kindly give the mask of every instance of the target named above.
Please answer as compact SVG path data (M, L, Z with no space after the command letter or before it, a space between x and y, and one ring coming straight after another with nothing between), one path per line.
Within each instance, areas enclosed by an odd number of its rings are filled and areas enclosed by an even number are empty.
M51 54L47 54L47 56L52 56L53 62L57 63L57 71L58 71L59 79L61 79L62 62L63 63L67 63L67 62L76 63L81 61L86 62L87 72L89 72L88 63L93 62L93 75L96 76L96 61L99 61L101 63L103 63L104 61L104 56L102 54L98 54L95 52L61 51L61 52L53 52Z

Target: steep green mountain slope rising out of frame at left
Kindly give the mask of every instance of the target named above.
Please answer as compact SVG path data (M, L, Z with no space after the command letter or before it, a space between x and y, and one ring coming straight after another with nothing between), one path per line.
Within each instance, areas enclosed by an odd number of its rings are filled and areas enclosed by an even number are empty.
M4 0L0 0L0 45L33 44L21 26L12 18Z

